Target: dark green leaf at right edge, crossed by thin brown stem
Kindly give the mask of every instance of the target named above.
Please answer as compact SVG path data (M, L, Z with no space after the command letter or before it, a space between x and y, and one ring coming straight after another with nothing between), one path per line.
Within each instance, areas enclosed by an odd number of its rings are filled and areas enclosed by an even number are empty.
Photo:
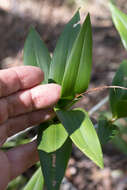
M123 61L112 82L113 86L127 88L127 61ZM127 90L110 89L110 105L114 118L127 116Z

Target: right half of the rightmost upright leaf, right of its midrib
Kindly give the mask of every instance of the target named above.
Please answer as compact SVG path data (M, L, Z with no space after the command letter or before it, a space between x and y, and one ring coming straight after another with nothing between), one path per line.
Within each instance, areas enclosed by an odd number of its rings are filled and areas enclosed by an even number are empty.
M87 18L86 33L76 77L75 94L84 92L89 85L92 66L92 28L90 17Z

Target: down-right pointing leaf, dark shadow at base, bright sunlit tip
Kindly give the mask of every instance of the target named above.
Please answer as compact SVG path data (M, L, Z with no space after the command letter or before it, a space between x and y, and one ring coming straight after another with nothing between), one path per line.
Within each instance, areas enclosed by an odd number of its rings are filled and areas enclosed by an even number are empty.
M100 142L87 112L80 108L69 111L57 109L56 114L74 144L103 168Z

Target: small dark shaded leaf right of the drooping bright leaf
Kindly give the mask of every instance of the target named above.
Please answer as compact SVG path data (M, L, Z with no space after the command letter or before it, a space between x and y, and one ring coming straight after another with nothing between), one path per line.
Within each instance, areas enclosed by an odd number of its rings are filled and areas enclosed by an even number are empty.
M106 144L118 135L119 129L116 125L107 120L106 117L101 116L98 121L98 137L101 144Z

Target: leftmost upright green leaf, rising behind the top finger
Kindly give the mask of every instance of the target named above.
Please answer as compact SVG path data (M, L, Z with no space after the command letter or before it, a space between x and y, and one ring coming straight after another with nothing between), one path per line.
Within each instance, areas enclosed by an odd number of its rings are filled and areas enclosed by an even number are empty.
M43 83L48 83L50 54L34 28L30 28L24 46L24 65L40 67L44 72Z

